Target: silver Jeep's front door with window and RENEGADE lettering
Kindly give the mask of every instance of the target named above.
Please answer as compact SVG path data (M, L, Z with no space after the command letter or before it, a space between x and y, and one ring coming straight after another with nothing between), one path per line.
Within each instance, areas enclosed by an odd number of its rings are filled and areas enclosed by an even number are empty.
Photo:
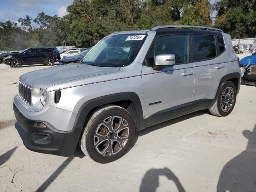
M195 78L190 42L187 34L155 38L142 67L147 126L190 111ZM174 54L175 65L154 68L154 58L159 54Z

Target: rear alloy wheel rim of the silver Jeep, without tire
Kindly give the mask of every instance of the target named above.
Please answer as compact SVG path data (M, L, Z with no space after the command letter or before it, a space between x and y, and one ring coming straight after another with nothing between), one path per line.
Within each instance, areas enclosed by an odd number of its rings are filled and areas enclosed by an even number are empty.
M226 87L222 91L222 95L220 98L220 108L222 109L222 111L224 112L230 111L230 109L233 106L234 99L235 99L234 89L230 86Z

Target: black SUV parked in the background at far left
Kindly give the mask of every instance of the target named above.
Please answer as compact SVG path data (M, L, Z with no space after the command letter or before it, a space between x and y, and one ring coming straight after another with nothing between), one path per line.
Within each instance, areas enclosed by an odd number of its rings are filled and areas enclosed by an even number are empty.
M60 53L56 48L28 48L17 54L12 54L4 58L4 63L11 67L22 65L44 64L54 65L60 61Z

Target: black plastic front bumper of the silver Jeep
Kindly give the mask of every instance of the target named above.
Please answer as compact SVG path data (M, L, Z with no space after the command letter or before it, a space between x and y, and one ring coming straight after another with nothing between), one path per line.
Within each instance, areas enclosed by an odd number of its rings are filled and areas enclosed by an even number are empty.
M26 118L15 104L13 104L13 110L17 120L15 128L18 130L26 148L47 154L74 154L81 133L80 129L74 129L70 132L57 131L48 122ZM44 123L46 128L35 127L35 122Z

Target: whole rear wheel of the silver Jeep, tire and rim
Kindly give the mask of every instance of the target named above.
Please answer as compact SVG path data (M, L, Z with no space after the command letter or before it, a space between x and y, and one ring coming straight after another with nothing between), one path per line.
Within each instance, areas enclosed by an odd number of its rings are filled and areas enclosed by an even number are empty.
M228 92L228 90L230 90ZM216 101L210 106L211 114L219 117L228 116L236 104L236 86L231 81L226 81L222 84Z

